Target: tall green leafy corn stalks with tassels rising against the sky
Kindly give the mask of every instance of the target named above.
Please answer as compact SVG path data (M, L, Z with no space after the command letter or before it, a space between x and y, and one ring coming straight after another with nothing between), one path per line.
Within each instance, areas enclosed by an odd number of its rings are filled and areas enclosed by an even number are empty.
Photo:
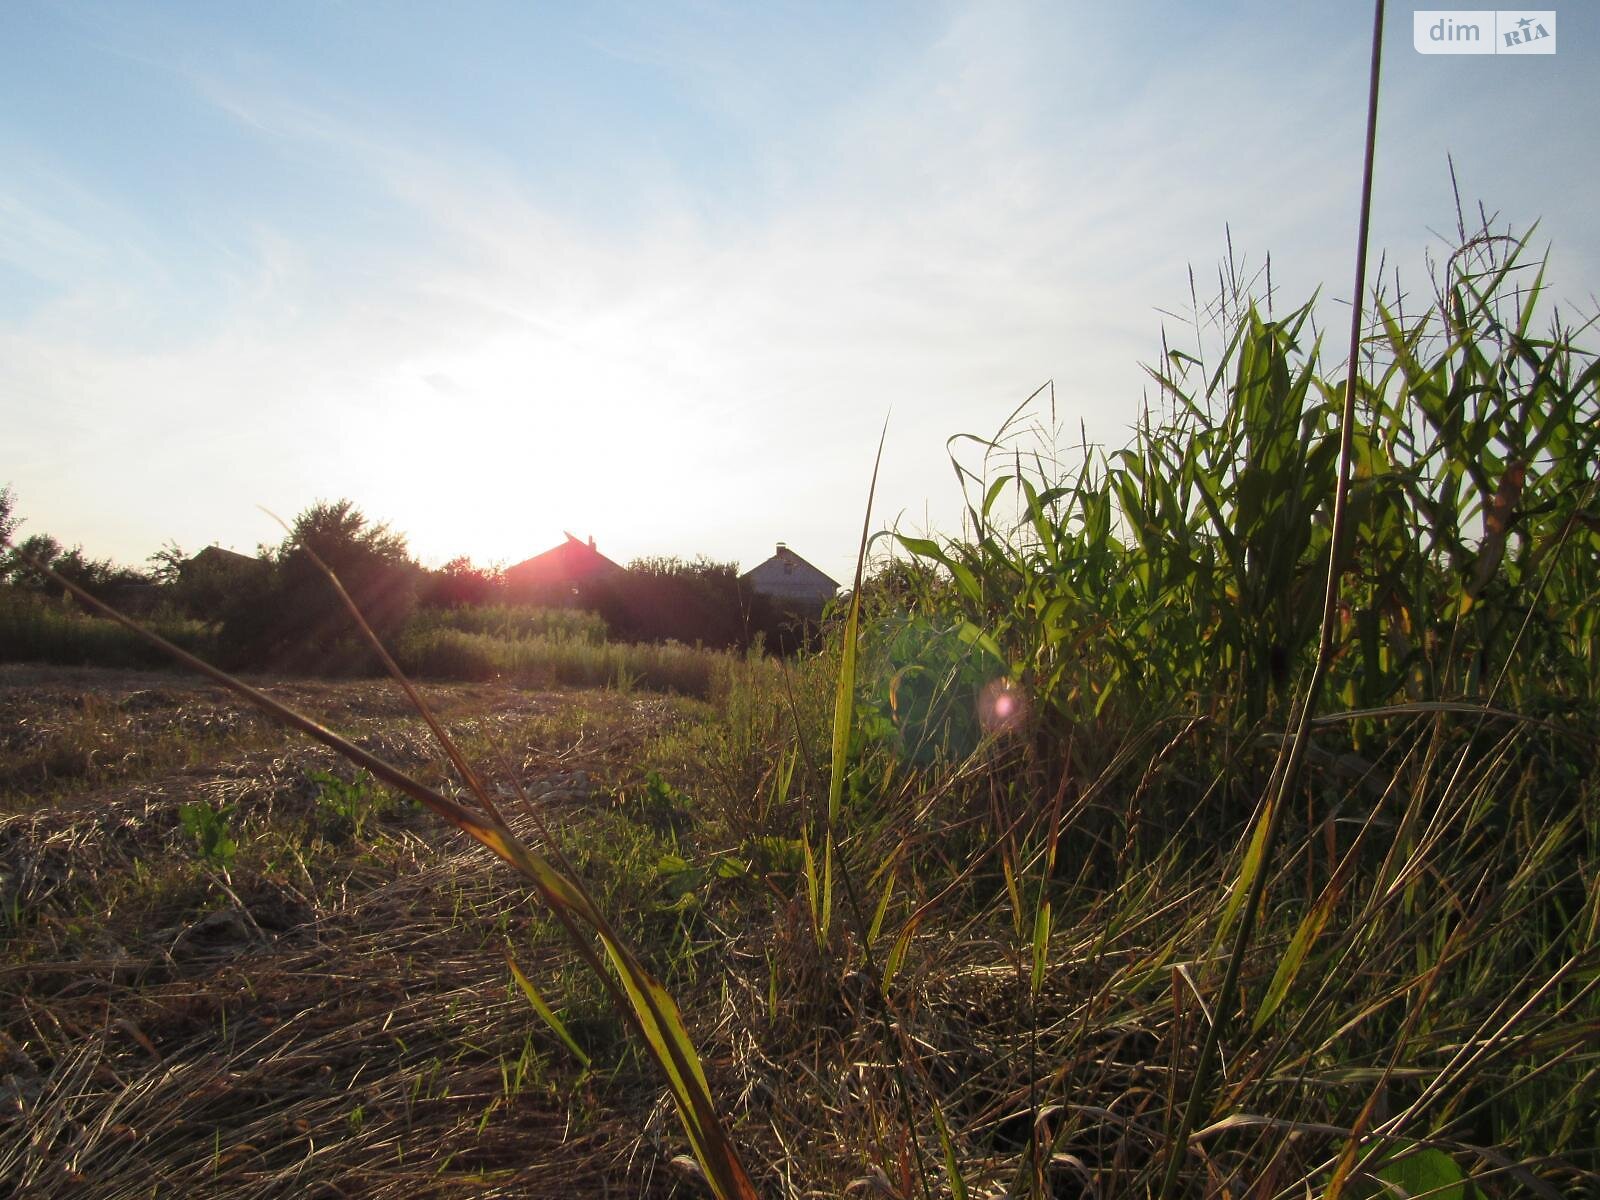
M1336 563L1328 686L1349 709L1595 698L1600 370L1571 330L1534 333L1542 264L1525 254L1485 230L1429 312L1378 296ZM1165 411L1077 467L984 440L1003 467L971 536L899 539L944 573L922 611L960 614L963 645L1066 720L1186 696L1246 726L1282 712L1333 552L1342 378L1309 322L1246 302L1211 363L1170 350L1152 368Z

